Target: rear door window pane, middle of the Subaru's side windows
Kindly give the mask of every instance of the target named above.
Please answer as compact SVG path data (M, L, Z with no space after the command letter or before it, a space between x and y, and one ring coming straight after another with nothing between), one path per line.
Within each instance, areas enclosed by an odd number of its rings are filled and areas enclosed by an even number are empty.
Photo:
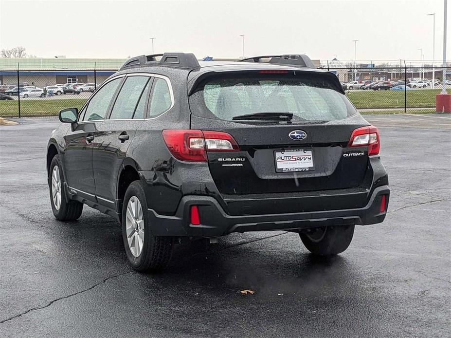
M148 76L129 76L126 78L126 82L122 86L114 103L109 117L110 120L132 118L138 100L148 80Z

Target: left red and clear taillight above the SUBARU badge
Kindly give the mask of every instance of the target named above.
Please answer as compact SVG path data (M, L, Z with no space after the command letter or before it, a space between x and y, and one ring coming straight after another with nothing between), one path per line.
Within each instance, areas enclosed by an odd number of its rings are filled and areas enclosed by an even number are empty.
M180 161L206 162L207 151L239 151L235 139L222 131L165 129L163 139L171 154Z

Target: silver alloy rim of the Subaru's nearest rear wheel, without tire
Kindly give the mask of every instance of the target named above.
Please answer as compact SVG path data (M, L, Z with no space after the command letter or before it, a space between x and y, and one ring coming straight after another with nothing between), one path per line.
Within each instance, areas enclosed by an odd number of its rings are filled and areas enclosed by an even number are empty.
M141 255L144 245L143 208L136 196L130 197L126 211L126 235L128 248L133 256Z

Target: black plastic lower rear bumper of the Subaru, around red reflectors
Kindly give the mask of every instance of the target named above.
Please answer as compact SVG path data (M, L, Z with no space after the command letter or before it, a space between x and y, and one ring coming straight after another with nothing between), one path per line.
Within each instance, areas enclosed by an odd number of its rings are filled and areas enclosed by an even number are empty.
M382 195L385 207L380 212ZM147 210L152 231L157 236L218 237L231 232L299 230L317 226L369 225L381 223L386 215L390 196L388 186L373 190L366 206L352 209L309 211L299 213L259 214L232 216L227 214L215 198L187 195L181 198L174 216L159 215ZM197 205L201 225L190 224L190 207ZM321 208L318 204L318 208Z

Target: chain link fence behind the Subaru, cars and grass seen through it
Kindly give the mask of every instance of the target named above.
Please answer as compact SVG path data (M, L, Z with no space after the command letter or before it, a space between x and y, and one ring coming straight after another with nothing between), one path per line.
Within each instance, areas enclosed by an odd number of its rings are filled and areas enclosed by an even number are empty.
M56 116L64 108L81 108L123 60L115 62L104 63L101 69L95 63L59 70L45 65L38 68L35 64L28 67L18 64L15 70L11 66L7 70L0 67L0 116ZM320 68L337 75L346 96L362 114L433 113L435 95L440 94L443 82L451 94L450 67L406 63L384 67L329 66L326 62Z

